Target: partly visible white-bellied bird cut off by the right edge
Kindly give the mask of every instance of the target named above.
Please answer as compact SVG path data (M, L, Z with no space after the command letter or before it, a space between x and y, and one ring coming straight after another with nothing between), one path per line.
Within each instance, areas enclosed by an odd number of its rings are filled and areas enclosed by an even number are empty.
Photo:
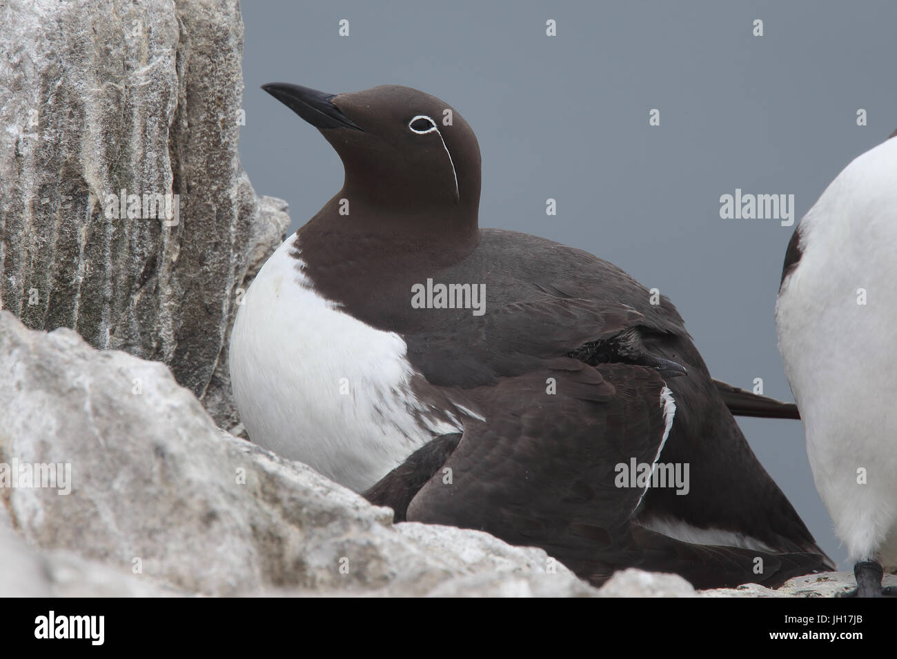
M895 132L897 134L897 132ZM788 244L776 325L816 489L854 564L850 595L897 568L897 139L853 160Z

